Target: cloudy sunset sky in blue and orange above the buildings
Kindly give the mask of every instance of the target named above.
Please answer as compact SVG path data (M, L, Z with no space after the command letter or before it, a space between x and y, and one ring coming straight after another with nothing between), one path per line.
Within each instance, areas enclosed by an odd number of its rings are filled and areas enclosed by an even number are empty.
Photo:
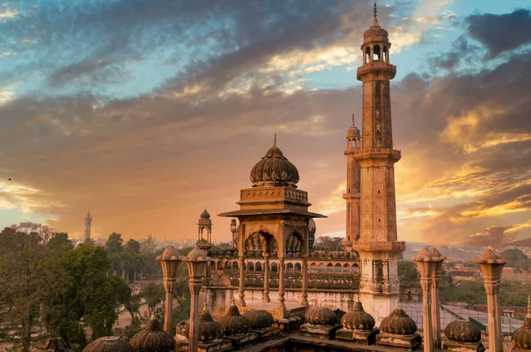
M365 0L0 1L0 226L229 241L277 134L317 234L343 235ZM389 0L398 238L531 237L528 0ZM361 122L358 119L358 125ZM11 180L9 180L11 179Z

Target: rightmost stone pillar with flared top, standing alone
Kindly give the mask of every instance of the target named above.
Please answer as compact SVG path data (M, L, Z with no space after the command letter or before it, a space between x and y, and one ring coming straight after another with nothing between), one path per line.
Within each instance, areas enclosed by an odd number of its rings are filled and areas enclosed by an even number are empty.
M479 259L474 260L480 265L483 273L485 291L487 292L487 310L489 314L489 350L504 350L504 334L502 333L502 316L500 314L499 285L504 264L494 249L487 249Z

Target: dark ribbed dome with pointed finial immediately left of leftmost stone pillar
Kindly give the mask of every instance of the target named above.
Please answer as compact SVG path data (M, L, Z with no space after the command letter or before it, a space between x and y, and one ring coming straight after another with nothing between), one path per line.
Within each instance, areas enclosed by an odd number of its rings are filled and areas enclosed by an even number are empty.
M131 347L135 352L170 352L175 341L170 333L162 330L158 319L151 317L146 328L131 338Z

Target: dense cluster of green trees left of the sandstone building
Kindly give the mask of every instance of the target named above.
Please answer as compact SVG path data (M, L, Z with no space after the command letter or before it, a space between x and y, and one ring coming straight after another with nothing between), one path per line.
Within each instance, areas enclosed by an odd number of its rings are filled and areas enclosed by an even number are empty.
M132 336L140 330L141 300L151 314L165 295L158 282L133 295L127 282L160 277L156 256L162 251L151 236L124 245L121 234L112 233L104 246L89 240L73 248L67 233L48 226L5 227L0 233L0 341L12 341L26 352L47 336L61 336L81 350L87 336L112 335L119 309L131 314L125 333ZM181 272L175 296L181 302L189 297L187 271Z

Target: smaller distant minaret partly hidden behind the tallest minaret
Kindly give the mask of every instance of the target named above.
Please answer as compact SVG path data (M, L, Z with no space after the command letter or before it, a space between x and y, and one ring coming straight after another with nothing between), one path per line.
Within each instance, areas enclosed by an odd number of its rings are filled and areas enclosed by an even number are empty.
M361 149L361 135L354 122L352 114L352 126L347 132L347 149L344 154L347 156L347 193L343 198L347 201L347 228L345 240L342 241L345 249L352 249L352 241L359 239L359 164L356 154Z

